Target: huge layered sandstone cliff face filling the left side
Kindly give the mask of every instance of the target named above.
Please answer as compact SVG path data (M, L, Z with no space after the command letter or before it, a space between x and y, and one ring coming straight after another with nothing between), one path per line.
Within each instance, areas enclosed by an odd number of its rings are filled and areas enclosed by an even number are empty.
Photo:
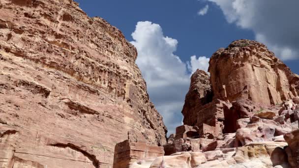
M0 0L0 16L0 167L110 168L128 131L166 143L120 30L72 0Z

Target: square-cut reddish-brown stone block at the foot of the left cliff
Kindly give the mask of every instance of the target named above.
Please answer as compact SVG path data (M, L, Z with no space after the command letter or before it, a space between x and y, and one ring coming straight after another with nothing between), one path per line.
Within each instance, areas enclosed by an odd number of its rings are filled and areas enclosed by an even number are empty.
M163 147L125 140L115 146L113 168L129 168L138 160L159 156L164 156Z

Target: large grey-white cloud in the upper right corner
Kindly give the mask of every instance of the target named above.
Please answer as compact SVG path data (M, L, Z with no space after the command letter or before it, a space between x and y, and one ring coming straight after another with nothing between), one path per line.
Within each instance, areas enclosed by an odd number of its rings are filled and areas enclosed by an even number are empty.
M208 0L282 59L299 58L299 0Z

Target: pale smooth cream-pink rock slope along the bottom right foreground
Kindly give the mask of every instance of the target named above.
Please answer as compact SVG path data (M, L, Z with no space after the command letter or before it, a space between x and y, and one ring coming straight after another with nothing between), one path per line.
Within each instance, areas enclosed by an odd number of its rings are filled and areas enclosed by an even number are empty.
M172 156L158 157L154 161L149 158L151 166L132 168L291 168L285 148L286 142L255 142L203 153L179 152ZM143 163L149 165L146 160Z

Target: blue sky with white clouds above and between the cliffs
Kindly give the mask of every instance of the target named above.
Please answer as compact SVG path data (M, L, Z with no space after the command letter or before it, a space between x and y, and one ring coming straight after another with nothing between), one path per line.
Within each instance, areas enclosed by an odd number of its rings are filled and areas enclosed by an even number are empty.
M135 45L150 99L170 133L181 124L191 72L206 70L206 57L234 40L265 43L299 73L298 0L76 1L90 17L104 18Z

